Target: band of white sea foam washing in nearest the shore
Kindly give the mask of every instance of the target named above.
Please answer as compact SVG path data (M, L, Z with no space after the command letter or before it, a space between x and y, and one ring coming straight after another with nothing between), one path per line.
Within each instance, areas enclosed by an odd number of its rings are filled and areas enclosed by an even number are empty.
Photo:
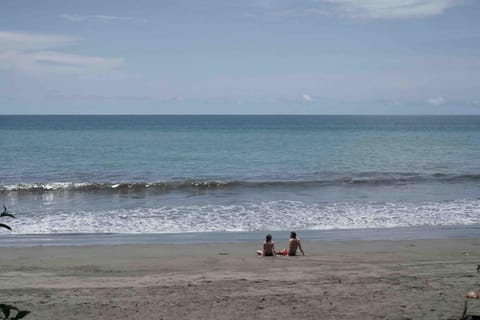
M99 211L19 213L13 232L183 233L255 230L330 230L480 223L480 200L423 203L301 201L188 205Z

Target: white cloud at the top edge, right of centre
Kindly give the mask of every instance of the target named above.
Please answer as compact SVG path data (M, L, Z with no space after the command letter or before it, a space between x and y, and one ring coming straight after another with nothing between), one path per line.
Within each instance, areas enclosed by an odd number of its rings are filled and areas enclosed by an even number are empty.
M338 13L355 18L421 18L442 14L462 0L316 0L330 3Z

